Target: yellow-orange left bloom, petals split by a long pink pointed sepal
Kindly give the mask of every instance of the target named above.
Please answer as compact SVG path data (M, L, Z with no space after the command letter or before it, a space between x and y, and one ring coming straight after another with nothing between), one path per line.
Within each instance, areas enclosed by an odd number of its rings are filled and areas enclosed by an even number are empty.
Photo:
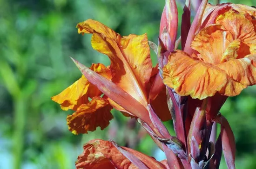
M93 34L92 47L107 55L111 61L109 67L98 63L93 64L90 69L115 83L117 87L138 101L147 112L149 91L158 73L158 71L152 72L147 35L131 34L121 37L107 26L91 19L79 23L77 27L78 33ZM159 112L159 117L166 121L171 119L166 101L162 103L162 106L155 104L159 100L166 100L165 91L166 89L163 88L161 94L152 100L152 106L155 112ZM148 112L146 114L138 111L130 112L106 95L101 98L101 94L102 92L96 86L82 76L61 94L52 97L52 100L61 104L63 110L76 111L67 117L68 128L74 134L94 131L97 126L100 126L101 129L107 127L109 120L113 118L110 113L112 107L126 116L135 116L142 120L145 118L144 120L148 121ZM89 101L88 98L92 100ZM129 104L129 100L126 102ZM157 111L159 109L161 111Z

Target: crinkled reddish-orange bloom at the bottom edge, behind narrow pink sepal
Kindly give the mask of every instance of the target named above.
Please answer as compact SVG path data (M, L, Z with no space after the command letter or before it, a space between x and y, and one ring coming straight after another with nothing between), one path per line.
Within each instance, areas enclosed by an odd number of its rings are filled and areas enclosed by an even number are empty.
M122 148L136 156L149 169L167 169L153 157L126 147ZM83 149L75 163L77 169L138 169L110 141L91 140L84 144Z

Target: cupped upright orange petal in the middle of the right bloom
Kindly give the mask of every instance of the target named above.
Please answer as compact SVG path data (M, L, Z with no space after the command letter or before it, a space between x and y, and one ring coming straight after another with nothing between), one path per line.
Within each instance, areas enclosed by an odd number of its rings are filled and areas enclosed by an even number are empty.
M210 25L195 36L191 48L204 62L217 64L221 63L222 54L232 41L231 33L223 30L221 25Z

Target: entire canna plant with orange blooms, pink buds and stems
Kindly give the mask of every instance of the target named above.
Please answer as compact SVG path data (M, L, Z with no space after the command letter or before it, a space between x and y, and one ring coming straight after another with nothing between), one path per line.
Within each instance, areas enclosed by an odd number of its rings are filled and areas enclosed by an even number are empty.
M190 23L186 0L177 39L176 2L166 0L157 45L147 34L121 37L92 19L77 25L78 33L92 34L92 47L111 64L87 68L72 58L82 77L52 97L63 110L75 111L67 117L68 129L74 134L104 129L115 108L135 118L166 156L158 162L113 140L95 139L84 145L78 169L218 169L222 152L228 168L235 169L235 138L219 111L229 96L256 84L256 9L208 0L198 4ZM170 119L176 136L162 124ZM217 139L216 124L221 126Z

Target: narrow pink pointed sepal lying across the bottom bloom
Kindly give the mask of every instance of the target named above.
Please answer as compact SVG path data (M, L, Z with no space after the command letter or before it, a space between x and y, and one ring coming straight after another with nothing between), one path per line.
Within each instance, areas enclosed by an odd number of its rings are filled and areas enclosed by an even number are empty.
M136 156L122 149L119 145L117 145L114 141L110 140L110 142L115 146L117 150L119 150L130 162L132 162L139 169L148 169L148 167L141 162Z

